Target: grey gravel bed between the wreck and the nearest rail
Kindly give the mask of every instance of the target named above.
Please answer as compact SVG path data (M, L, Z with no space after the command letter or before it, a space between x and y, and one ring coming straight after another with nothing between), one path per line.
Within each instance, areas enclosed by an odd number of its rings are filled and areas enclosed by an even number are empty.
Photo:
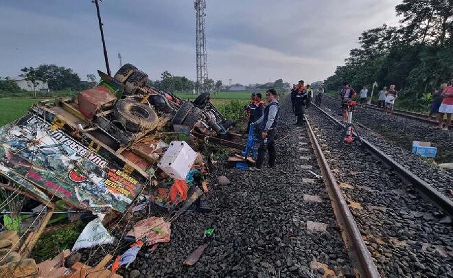
M312 171L317 174L319 169L305 127L296 130L289 107L283 105L278 137L289 136L277 142L275 169L265 166L262 172L243 172L219 161L211 171L207 194L212 211L183 214L172 222L170 242L159 244L152 253L142 248L129 269L120 270L119 274L125 277L353 275L325 185L321 181L303 180L314 176L300 165L312 165ZM221 175L227 176L231 184L215 186L216 178ZM304 194L318 196L320 202L305 201ZM151 215L154 214L152 211ZM143 211L139 218L146 216ZM307 231L307 221L327 224L327 231ZM204 243L203 231L211 227L215 229L214 235L200 260L192 267L183 266L187 256Z

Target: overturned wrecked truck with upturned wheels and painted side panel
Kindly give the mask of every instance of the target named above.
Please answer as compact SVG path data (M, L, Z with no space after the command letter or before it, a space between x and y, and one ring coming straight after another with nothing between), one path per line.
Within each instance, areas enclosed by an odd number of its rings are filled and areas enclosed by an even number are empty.
M39 102L0 128L0 187L47 207L25 242L27 253L56 200L115 217L143 187L156 187L156 165L167 148L159 139L163 133L184 132L243 148L228 140L235 137L228 131L233 122L211 104L209 94L182 100L148 86L146 73L130 64L113 78L98 73L101 81L94 88L70 100Z

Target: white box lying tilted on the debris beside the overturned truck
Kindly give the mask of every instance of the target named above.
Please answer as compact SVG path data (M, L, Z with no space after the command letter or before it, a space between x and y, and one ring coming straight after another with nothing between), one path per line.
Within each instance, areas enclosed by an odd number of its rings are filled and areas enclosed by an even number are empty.
M157 166L170 177L185 180L197 156L186 142L172 141Z

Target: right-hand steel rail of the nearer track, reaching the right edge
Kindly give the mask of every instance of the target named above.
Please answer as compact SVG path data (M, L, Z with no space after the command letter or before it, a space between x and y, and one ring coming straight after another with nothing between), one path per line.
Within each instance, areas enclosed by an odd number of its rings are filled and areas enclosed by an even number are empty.
M323 111L323 109L319 108L318 106L314 105L314 107L318 108L319 111L324 113L329 119L334 121L338 126L345 127L343 124L338 121L338 119L335 119L332 117L332 115L329 115L329 113ZM356 132L354 132L356 136ZM410 170L406 169L403 165L397 163L397 161L393 160L391 157L389 157L387 154L379 150L376 146L374 146L370 141L364 138L360 138L362 140L362 146L370 152L371 154L374 154L375 157L386 163L387 165L391 166L392 169L397 172L404 180L406 180L408 183L411 183L421 193L423 193L426 197L428 197L434 205L437 205L441 207L442 209L445 210L448 215L453 216L453 201L450 200L450 198L446 197L445 195L441 194L438 192L436 189L434 189L431 185L428 185L426 181L423 181L419 176L411 172Z

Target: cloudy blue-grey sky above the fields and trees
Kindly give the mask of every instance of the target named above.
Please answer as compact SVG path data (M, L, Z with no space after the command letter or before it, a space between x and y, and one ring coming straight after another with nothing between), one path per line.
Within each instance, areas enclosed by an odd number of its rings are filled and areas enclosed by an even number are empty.
M332 76L364 30L395 25L401 0L207 0L209 78L233 84ZM111 71L132 63L158 80L163 71L196 79L192 0L100 3ZM82 80L105 70L91 0L2 0L0 77L56 64Z

